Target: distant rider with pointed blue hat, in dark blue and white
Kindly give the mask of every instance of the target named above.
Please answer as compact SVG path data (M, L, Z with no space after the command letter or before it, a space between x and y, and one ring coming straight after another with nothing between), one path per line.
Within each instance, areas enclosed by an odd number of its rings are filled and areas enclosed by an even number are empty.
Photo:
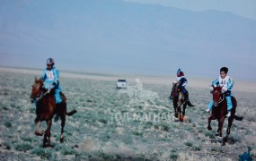
M184 72L181 71L181 68L179 68L176 75L177 75L177 77L176 77L177 85L181 89L181 92L184 94L185 100L190 101L189 92L187 89L185 89L186 85L188 84L188 80L185 78ZM172 99L172 92L171 92L171 96L169 98Z

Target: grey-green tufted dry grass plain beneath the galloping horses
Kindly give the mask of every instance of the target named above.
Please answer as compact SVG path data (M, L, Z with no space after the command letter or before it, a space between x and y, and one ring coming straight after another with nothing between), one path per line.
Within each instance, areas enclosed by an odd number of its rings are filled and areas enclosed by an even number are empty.
M237 160L255 149L255 93L235 92L237 114L225 147L207 131L204 112L210 100L207 89L188 88L195 107L187 108L187 122L173 117L170 87L131 81L116 90L110 80L61 78L68 110L65 143L59 143L60 123L53 123L53 148L42 148L42 137L33 134L35 107L30 103L34 74L0 72L0 157L4 160ZM171 84L171 83L170 83ZM227 123L225 122L225 127ZM45 128L46 124L42 124ZM223 130L225 133L225 128ZM253 141L254 140L254 141ZM255 154L255 153L253 153Z

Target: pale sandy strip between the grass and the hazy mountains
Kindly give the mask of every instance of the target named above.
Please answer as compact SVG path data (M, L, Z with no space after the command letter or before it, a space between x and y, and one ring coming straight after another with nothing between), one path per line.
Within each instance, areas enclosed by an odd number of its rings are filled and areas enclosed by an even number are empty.
M0 72L14 72L14 73L30 73L35 74L35 76L40 77L42 70L32 70L32 69L19 69L19 68L8 68L0 67ZM143 75L131 75L131 74L104 74L104 73L75 73L75 72L61 72L61 78L80 78L89 80L113 80L116 81L120 78L125 78L128 82L135 82L135 79L139 79L146 84L160 84L160 85L170 85L172 86L172 81L175 80L174 76L163 77L163 76L143 76ZM217 78L217 76L216 76ZM197 76L187 77L189 84L187 87L191 88L202 88L209 89L210 83L216 78L203 78ZM234 78L234 91L244 91L244 92L255 92L256 91L256 81L246 81Z

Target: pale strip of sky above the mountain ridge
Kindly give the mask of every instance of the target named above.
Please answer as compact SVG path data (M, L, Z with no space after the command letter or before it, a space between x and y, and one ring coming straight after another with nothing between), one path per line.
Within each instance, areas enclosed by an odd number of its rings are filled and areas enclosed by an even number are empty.
M221 10L256 20L256 0L125 0L142 4L162 4L192 11Z

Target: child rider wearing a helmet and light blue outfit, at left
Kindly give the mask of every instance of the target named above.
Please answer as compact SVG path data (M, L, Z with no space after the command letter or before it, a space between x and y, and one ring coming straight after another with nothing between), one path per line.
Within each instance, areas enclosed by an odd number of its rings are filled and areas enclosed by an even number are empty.
M53 58L47 59L47 68L43 71L41 75L41 79L44 80L44 88L45 89L55 89L55 100L56 100L56 106L60 106L62 99L60 97L61 87L59 85L59 72L54 67L54 60ZM37 119L35 122L37 122ZM55 121L57 121L58 115L55 117Z

